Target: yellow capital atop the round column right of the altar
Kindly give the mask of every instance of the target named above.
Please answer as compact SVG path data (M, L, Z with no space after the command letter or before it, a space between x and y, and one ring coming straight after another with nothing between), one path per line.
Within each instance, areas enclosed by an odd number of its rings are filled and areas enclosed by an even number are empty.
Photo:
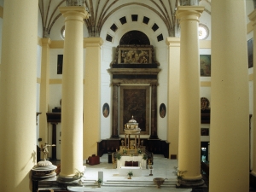
M204 11L204 6L179 6L177 7L176 16L182 22L183 20L198 20Z

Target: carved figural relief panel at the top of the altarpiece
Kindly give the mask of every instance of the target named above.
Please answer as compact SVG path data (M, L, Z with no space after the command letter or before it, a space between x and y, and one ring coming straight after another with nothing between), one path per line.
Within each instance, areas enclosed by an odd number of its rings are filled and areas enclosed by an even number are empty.
M120 47L119 64L149 64L152 63L151 47Z

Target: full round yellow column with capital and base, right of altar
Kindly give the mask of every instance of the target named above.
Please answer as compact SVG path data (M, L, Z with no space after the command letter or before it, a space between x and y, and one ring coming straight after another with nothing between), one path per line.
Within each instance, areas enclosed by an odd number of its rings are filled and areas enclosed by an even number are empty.
M180 20L180 94L178 167L187 171L183 186L202 185L201 180L201 103L198 23L204 7L177 8Z

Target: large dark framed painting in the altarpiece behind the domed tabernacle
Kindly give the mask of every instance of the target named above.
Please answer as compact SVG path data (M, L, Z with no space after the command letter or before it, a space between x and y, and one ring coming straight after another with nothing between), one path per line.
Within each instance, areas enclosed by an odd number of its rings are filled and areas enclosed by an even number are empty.
M149 86L121 86L119 133L125 134L125 124L132 118L138 123L141 135L149 134Z

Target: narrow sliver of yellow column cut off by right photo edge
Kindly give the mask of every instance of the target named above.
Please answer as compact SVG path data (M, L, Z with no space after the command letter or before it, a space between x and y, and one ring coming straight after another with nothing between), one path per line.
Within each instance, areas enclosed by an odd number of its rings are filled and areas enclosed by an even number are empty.
M256 9L248 15L253 21L253 37L256 39ZM256 44L253 44L253 55L256 55ZM256 122L256 59L253 59L253 122ZM256 123L253 125L253 171L251 174L256 177Z

